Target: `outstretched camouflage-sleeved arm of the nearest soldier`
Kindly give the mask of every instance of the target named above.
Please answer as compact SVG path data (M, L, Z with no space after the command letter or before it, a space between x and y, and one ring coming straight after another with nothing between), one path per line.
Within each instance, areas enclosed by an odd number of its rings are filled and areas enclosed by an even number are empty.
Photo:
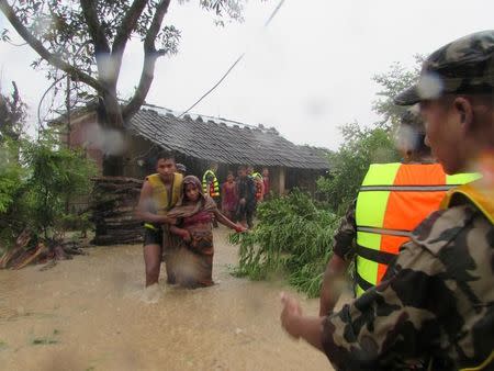
M323 350L337 369L380 369L395 358L419 357L440 336L437 305L430 305L441 303L441 311L449 311L450 301L437 277L444 269L440 262L414 243L406 245L388 281L325 318L291 310L284 322L282 317L283 327ZM316 326L316 319L323 326Z

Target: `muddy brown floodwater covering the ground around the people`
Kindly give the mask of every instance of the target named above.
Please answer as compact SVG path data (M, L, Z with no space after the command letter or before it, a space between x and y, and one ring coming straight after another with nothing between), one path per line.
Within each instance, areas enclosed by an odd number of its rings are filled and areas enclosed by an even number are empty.
M89 248L45 271L0 270L0 369L330 370L281 329L287 288L232 277L237 247L225 228L214 237L216 285L168 286L162 267L150 300L139 245ZM317 313L317 300L300 297Z

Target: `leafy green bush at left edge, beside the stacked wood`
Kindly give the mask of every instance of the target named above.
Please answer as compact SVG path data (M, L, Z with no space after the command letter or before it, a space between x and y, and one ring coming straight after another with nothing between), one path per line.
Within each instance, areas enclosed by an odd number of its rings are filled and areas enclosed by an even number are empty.
M83 223L78 218L85 216L70 214L66 205L69 198L90 192L96 166L57 143L45 131L35 142L0 144L0 245L10 245L24 228L53 239L65 232L65 221ZM19 148L21 162L14 156Z

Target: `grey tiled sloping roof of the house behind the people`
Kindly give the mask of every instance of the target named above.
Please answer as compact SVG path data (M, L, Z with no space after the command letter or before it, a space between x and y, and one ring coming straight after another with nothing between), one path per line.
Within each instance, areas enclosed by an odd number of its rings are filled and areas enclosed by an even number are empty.
M201 115L179 117L170 110L144 105L131 120L130 128L165 150L220 164L315 170L329 167L324 149L297 146L262 125Z

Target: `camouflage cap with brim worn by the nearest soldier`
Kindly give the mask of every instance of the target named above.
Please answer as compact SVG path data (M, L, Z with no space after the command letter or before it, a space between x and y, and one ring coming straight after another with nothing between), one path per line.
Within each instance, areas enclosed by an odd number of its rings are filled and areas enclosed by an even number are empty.
M447 93L493 93L494 30L458 38L434 52L423 64L418 82L395 97L411 105Z

